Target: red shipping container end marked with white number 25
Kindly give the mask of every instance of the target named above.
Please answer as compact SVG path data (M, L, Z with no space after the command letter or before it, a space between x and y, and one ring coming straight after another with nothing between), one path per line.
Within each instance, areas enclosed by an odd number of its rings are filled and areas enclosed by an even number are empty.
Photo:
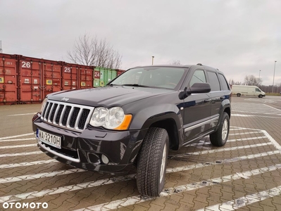
M66 89L78 89L79 86L79 75L78 68L69 63L62 62L62 88Z

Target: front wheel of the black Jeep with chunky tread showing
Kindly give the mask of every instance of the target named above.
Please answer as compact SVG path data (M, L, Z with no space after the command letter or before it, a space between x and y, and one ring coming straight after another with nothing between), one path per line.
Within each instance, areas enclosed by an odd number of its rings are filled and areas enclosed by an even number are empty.
M164 188L169 147L166 129L151 127L137 159L137 189L142 196L159 196Z

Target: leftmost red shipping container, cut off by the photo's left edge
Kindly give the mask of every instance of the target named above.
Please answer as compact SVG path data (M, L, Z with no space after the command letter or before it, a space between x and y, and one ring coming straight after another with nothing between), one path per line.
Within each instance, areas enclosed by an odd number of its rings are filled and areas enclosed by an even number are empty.
M18 103L18 56L0 53L0 105Z

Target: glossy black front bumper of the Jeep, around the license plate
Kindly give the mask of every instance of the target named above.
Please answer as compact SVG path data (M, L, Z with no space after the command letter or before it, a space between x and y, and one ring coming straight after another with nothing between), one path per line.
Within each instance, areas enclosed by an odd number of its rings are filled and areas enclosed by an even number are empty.
M39 113L32 119L32 129L36 138L37 129L62 137L61 149L37 138L39 149L51 158L85 170L107 173L130 170L146 134L146 129L110 131L91 127L82 133L72 132L42 122ZM107 164L102 161L101 155L106 155Z

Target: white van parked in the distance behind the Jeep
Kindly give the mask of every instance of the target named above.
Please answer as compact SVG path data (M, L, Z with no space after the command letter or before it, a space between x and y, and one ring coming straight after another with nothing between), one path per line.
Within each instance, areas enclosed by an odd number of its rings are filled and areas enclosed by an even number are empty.
M237 96L258 96L259 98L266 96L266 93L256 86L232 85L231 90L232 94Z

